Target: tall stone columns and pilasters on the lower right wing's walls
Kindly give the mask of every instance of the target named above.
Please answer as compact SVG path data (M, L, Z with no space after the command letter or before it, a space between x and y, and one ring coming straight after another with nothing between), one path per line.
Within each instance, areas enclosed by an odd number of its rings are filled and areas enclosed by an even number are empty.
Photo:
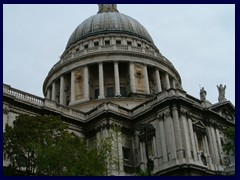
M176 163L197 163L208 166L212 170L221 170L220 152L222 145L220 141L220 133L218 129L211 125L205 127L205 133L201 132L201 137L197 137L198 131L194 129L194 123L191 118L186 116L186 112L179 112L175 106L170 110L166 110L159 115L156 121L156 140L153 151L156 151L156 157L159 165L177 160ZM199 143L201 141L201 143ZM199 145L202 144L202 147ZM144 148L140 145L140 152L145 161ZM202 155L205 156L206 162L203 162ZM206 164L205 164L206 163ZM156 166L157 167L157 166Z

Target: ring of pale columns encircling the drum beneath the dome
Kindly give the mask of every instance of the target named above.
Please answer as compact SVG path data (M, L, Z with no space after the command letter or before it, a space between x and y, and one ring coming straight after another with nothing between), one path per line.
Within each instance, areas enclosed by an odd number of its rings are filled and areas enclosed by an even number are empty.
M121 63L120 61L113 61L113 67L114 67L114 91L115 91L115 97L120 97L121 96L121 91L120 91L120 73L119 73L119 63ZM131 93L139 93L137 90L137 82L136 82L136 64L140 64L137 62L129 62L129 71L126 73L129 74L129 80L130 80L130 84L129 84L129 88ZM96 64L95 64L96 65ZM149 86L149 79L151 78L148 77L149 76L149 68L150 66L148 66L147 64L140 64L141 65L141 72L142 72L142 78L143 78L143 94L151 94L150 91L150 86ZM97 64L98 66L98 86L99 86L99 95L98 95L98 99L104 99L106 97L105 94L105 83L104 83L104 63L103 62L99 62ZM83 91L83 96L81 97L80 101L88 101L90 99L90 73L89 73L89 67L91 67L90 65L84 65L82 67L79 67L83 70L83 75L82 75L82 79L83 79L83 87L82 87L82 91ZM151 72L153 73L153 78L151 79L152 81L154 81L154 88L155 88L155 93L159 93L165 89L170 89L170 88L176 88L176 80L174 78L169 77L169 73L168 72L164 72L162 70L160 70L157 67L151 67ZM68 103L74 104L76 101L78 101L78 99L76 99L76 70L72 70L71 73L69 73L70 76L70 87L69 87L69 97L68 94L66 92L66 80L65 80L65 76L66 74L60 76L60 78L52 81L52 83L48 86L47 89L47 98L51 99L53 101L57 101L60 104L63 105L68 105ZM161 77L163 76L163 77ZM127 80L126 80L127 81ZM56 82L58 82L58 86L56 86ZM59 88L59 89L58 89ZM58 97L58 98L56 98ZM66 99L69 98L69 100L67 101ZM67 103L68 102L68 103Z

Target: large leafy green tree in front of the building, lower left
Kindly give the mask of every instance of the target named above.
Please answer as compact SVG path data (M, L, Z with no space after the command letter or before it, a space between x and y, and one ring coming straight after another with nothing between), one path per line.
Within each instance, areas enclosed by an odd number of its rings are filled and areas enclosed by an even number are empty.
M19 115L6 125L4 156L22 175L106 175L108 144L87 147L55 116Z

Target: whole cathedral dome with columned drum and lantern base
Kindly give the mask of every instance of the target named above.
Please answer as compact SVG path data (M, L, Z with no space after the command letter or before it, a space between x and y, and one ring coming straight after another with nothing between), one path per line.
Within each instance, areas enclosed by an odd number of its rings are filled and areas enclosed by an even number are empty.
M99 4L98 13L73 31L43 85L47 98L85 112L103 102L131 109L178 88L181 77L172 63L116 4Z

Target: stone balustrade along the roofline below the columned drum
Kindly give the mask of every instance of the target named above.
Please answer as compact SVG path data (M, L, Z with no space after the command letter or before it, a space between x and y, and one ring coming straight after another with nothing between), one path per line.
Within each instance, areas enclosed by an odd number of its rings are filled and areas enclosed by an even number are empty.
M111 103L111 102L107 102L107 103L102 103L102 104L98 105L97 107L95 107L94 109L84 113L82 111L72 109L68 106L58 104L49 99L40 98L40 97L34 96L32 94L20 91L18 89L12 88L11 86L6 85L6 84L3 84L3 93L14 96L17 99L20 99L22 101L34 103L38 106L44 106L48 109L56 110L59 113L63 113L65 115L72 116L79 120L87 120L89 118L93 118L95 115L98 115L104 111L121 113L126 116L132 116L132 115L134 116L134 115L138 114L139 112L144 112L147 109L151 109L154 104L156 104L157 102L163 101L164 99L166 99L168 97L172 97L172 96L186 97L185 91L180 90L180 89L171 88L167 91L163 91L163 92L156 94L155 97L153 97L150 100L146 101L145 103L133 108L132 110L126 109L122 106L119 106L119 105ZM189 99L189 97L188 97L188 99Z

